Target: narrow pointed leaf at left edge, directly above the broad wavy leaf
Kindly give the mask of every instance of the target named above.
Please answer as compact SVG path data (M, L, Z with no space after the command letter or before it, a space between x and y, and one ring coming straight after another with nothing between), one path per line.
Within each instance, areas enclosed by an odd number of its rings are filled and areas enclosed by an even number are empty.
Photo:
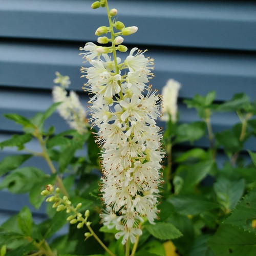
M31 158L32 155L18 155L5 157L0 162L0 175L8 173L10 170L16 169L19 165L23 164L26 160Z

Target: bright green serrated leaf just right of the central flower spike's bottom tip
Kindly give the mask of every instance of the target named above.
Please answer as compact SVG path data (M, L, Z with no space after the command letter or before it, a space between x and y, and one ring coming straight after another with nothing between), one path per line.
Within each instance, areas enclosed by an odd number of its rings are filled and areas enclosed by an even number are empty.
M176 239L182 236L182 233L173 224L168 222L157 222L155 225L144 225L144 228L155 238L161 240Z

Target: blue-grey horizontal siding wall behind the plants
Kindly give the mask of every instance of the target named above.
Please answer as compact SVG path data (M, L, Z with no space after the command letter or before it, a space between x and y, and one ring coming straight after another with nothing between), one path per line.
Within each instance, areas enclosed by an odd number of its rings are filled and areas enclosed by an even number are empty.
M82 58L79 47L95 42L95 30L108 24L103 8L92 10L89 0L0 0L0 141L21 127L5 119L4 113L26 117L44 111L51 103L55 71L69 75L71 89L79 92L86 106L88 96L81 87ZM122 1L109 0L126 26L138 26L125 45L148 49L155 59L154 88L161 91L169 78L182 84L179 98L181 121L198 117L182 101L195 94L217 91L217 100L245 92L256 99L256 5L247 1ZM122 55L120 55L121 57ZM214 131L223 130L238 119L218 114ZM48 124L57 131L67 125L54 114ZM202 146L205 141L200 142ZM251 149L256 143L250 142ZM36 150L36 142L30 143ZM0 152L0 160L12 153ZM48 172L41 159L33 158ZM18 200L18 201L17 201ZM0 191L0 222L29 205L26 195L17 197ZM40 219L44 211L33 209Z

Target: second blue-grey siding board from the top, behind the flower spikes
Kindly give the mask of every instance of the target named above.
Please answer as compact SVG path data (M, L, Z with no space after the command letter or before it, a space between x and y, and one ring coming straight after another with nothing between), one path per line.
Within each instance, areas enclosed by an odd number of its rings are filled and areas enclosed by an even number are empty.
M2 42L0 82L9 87L49 90L55 71L59 71L71 77L73 90L81 91L86 79L80 78L79 69L83 63L78 53L78 46ZM250 95L252 100L256 98L254 54L149 50L146 55L155 59L155 78L151 82L156 89L161 90L169 78L174 78L182 84L182 98L211 90L217 91L218 100L228 100L240 92Z

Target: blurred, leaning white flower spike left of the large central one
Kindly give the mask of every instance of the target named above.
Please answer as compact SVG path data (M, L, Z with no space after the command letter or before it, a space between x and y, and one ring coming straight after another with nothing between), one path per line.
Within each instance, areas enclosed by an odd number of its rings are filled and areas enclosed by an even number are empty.
M78 95L74 91L68 92L65 90L70 85L69 76L62 76L56 72L54 83L59 83L60 86L54 86L52 95L54 102L62 102L58 106L58 112L70 125L72 129L83 134L87 131L88 123L86 119L86 111L79 101Z

